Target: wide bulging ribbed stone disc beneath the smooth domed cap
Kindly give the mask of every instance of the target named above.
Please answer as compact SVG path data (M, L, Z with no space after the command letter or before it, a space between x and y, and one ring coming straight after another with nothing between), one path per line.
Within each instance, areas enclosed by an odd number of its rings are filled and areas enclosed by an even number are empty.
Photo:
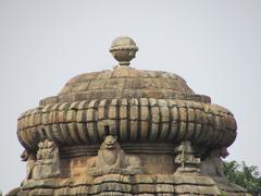
M222 107L153 98L47 105L21 115L17 135L29 149L46 138L60 145L99 144L105 126L120 142L191 140L220 147L229 146L236 137L235 119Z

